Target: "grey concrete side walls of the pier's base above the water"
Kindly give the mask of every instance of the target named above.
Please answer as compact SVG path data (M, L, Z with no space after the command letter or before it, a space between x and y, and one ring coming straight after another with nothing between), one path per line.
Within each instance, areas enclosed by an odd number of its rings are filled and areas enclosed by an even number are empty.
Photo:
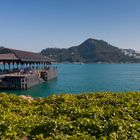
M47 70L47 80L57 77L56 69ZM4 89L28 89L45 82L40 74L7 75L0 81L0 88Z

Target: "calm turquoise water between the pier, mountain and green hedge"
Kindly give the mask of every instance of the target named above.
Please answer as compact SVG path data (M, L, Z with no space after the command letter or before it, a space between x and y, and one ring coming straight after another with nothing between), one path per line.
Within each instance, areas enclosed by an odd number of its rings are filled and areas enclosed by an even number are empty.
M92 91L140 91L140 64L58 64L58 78L28 90L33 97Z

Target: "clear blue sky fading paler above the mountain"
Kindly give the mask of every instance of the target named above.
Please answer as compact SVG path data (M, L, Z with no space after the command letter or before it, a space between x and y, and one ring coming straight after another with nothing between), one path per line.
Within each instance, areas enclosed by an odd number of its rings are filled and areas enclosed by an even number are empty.
M41 51L87 38L140 50L140 0L0 0L0 46Z

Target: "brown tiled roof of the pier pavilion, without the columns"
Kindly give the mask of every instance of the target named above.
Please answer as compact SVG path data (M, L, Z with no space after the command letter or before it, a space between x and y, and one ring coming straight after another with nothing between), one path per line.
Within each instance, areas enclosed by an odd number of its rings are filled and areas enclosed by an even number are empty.
M0 60L19 60L21 62L53 62L54 60L40 54L22 50L3 48L0 50Z

